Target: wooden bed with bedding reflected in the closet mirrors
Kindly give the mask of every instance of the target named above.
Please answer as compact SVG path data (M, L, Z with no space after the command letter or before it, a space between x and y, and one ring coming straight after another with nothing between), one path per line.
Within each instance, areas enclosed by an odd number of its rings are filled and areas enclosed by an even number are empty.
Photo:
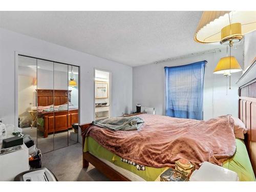
M78 123L78 106L70 103L70 97L71 90L37 90L37 129L44 138Z

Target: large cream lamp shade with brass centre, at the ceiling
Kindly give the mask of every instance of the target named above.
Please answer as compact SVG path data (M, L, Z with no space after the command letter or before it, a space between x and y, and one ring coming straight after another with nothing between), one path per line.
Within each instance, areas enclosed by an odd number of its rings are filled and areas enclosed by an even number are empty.
M254 30L256 30L256 11L204 11L194 40L222 44L229 38L241 40L242 35Z

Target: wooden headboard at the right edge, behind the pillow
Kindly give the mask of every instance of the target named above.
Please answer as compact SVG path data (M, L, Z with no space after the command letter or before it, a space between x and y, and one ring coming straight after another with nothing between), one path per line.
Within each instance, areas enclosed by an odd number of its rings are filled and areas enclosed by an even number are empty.
M256 82L239 88L239 118L247 129L245 144L256 175Z

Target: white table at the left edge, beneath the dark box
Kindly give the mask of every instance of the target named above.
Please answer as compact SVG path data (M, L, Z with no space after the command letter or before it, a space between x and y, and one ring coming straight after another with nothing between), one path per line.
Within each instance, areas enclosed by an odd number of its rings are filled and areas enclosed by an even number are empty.
M7 134L7 138L12 136ZM0 155L0 181L13 181L16 175L26 170L29 170L29 149L24 143L22 150Z

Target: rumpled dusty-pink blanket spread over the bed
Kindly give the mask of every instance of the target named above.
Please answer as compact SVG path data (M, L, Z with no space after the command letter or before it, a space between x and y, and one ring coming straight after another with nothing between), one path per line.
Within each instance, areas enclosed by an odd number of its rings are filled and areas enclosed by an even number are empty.
M236 152L230 115L208 121L149 114L139 117L144 120L140 131L113 132L93 125L86 135L124 159L152 167L174 167L180 158L196 168L204 161L222 165Z

